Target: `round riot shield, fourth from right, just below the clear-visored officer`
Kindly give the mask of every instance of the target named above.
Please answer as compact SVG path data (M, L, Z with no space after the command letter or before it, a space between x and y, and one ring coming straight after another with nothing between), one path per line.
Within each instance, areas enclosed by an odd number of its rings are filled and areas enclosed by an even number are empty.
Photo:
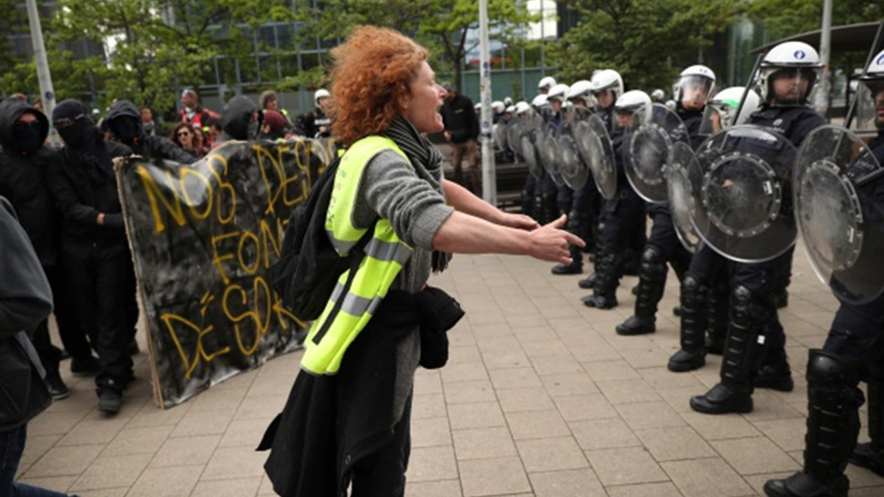
M648 202L668 200L666 165L676 142L688 142L688 128L666 105L654 103L650 115L636 111L626 136L626 178L638 196Z

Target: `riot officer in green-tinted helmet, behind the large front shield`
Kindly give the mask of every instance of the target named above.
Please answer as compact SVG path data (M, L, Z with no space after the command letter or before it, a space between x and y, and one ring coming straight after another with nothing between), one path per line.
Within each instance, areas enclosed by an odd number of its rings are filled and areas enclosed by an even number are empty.
M740 101L743 108L739 108ZM730 126L744 124L758 109L761 97L743 87L725 88L706 104L698 134L716 134ZM737 116L739 111L739 116ZM669 358L669 371L693 371L705 365L706 353L721 354L728 336L730 310L728 276L722 274L726 259L702 244L690 259L690 267L682 279L680 295L681 348ZM708 337L706 333L708 332Z

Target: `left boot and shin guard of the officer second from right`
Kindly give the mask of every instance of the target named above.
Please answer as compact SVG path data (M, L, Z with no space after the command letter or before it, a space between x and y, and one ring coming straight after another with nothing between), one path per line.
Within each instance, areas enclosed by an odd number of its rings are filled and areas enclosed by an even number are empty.
M705 395L690 399L690 408L705 414L752 411L752 375L763 350L758 345L761 325L751 315L755 297L743 286L731 300L728 340L721 361L721 381Z

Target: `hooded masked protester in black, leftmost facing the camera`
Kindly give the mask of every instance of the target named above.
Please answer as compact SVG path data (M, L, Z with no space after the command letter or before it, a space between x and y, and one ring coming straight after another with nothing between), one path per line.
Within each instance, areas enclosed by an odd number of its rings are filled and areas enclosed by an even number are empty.
M72 295L64 287L58 254L61 218L46 187L47 170L57 162L57 153L43 147L49 133L49 120L42 112L18 100L0 103L0 195L18 212L34 251L40 258L56 302L58 332L65 349L73 356L72 369L77 373L97 371L86 334L72 308ZM34 346L46 368L46 382L55 399L70 392L58 374L61 351L50 342L46 320L34 330Z

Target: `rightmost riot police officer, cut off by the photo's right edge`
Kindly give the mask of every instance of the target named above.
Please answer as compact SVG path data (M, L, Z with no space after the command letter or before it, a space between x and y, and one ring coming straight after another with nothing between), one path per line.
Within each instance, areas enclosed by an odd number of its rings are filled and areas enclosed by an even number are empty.
M884 419L881 416L884 378L884 294L872 302L857 303L845 300L839 285L850 284L849 279L863 273L869 279L871 269L864 263L880 264L880 249L873 237L884 226L884 51L881 51L861 78L860 101L871 106L879 133L869 147L874 160L866 154L857 157L845 174L861 200L865 226L873 233L866 238L860 256L855 261L854 274L833 274L828 284L839 296L841 307L835 313L825 345L810 351L807 363L807 434L804 447L804 468L789 478L768 480L765 493L771 497L810 497L814 495L846 496L850 481L844 475L848 460L884 476ZM864 99L863 89L871 98ZM826 130L822 130L826 131ZM877 178L875 180L874 178ZM877 232L877 233L875 233ZM873 247L869 247L873 245ZM871 257L869 257L871 255ZM877 260L876 260L877 257ZM864 260L865 259L865 260ZM842 283L842 279L844 280ZM876 281L884 285L884 281ZM880 287L877 289L880 293ZM858 409L863 404L863 393L858 382L868 383L869 437L871 442L857 444L859 432ZM856 448L854 448L856 446ZM852 454L851 454L852 451Z

